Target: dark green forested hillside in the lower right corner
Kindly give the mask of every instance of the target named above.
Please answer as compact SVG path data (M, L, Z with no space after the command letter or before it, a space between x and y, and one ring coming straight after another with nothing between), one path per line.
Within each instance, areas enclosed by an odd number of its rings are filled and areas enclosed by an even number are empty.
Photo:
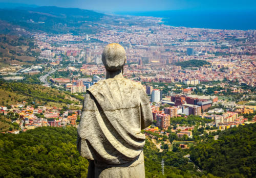
M255 177L256 123L220 132L191 148L191 160L216 176Z

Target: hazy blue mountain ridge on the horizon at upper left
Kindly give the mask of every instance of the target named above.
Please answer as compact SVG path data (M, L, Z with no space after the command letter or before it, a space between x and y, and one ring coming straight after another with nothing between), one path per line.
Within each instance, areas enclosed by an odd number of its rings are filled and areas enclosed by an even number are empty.
M0 9L0 20L18 25L29 31L43 31L53 34L93 33L105 14L78 8L55 6L17 7Z

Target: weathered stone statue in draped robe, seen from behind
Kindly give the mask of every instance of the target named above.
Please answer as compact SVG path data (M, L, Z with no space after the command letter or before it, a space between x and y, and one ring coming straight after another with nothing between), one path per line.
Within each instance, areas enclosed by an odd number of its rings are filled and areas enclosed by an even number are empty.
M142 85L123 78L125 61L121 45L107 45L102 53L106 80L84 97L77 147L89 160L88 177L145 177L141 129L153 116Z

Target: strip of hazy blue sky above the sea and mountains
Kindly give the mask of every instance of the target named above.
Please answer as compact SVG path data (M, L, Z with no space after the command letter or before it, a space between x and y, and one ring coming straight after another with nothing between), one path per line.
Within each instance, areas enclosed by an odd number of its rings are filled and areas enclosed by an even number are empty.
M81 8L101 12L180 9L256 10L256 0L0 0L0 2Z

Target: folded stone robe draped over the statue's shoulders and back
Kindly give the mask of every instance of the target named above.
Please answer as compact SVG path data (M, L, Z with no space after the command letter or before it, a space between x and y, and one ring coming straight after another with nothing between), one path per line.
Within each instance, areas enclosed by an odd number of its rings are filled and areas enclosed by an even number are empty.
M118 77L99 81L87 91L78 126L80 155L110 165L129 163L141 153L143 159L141 129L153 117L142 85Z

